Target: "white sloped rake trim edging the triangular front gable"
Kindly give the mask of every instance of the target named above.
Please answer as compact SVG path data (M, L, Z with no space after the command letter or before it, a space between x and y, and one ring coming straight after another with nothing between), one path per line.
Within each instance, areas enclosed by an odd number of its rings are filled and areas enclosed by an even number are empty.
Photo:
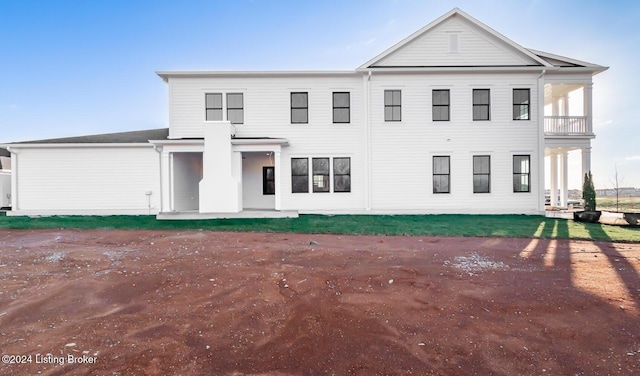
M516 50L520 51L522 54L528 56L529 58L533 59L534 61L537 61L538 63L540 63L541 66L547 67L547 68L552 67L552 65L549 64L544 59L541 59L540 57L536 56L534 53L532 53L528 49L522 47L521 45L517 44L516 42L512 41L511 39L505 37L504 35L500 34L499 32L495 31L494 29L490 28L486 24L480 22L479 20L473 18L469 14L463 12L460 8L453 8L450 11L448 11L447 13L445 13L442 16L440 16L437 19L435 19L434 21L430 22L427 26L424 26L420 30L414 32L413 34L411 34L408 37L406 37L403 40L401 40L399 43L396 43L393 46L391 46L390 48L388 48L387 50L383 51L381 54L377 55L373 59L371 59L371 60L367 61L366 63L362 64L360 67L358 67L358 69L370 68L371 65L373 63L375 63L376 61L379 61L379 60L387 57L388 55L392 54L396 50L398 50L401 47L405 46L406 44L412 42L414 39L416 39L420 35L422 35L425 32L431 30L432 28L434 28L436 25L440 24L441 22L443 22L447 18L452 17L452 16L454 16L456 14L461 16L462 18L467 19L467 21L469 21L472 24L476 25L477 27L483 29L484 31L486 31L487 33L493 35L494 37L500 39L502 42L504 42L504 43L508 44L509 46L515 48Z

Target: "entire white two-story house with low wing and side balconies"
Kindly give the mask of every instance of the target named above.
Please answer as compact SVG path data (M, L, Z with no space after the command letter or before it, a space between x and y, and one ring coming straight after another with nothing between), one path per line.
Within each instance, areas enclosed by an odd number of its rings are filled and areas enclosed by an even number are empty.
M162 71L168 129L2 145L10 215L543 214L606 69L456 8L355 70Z

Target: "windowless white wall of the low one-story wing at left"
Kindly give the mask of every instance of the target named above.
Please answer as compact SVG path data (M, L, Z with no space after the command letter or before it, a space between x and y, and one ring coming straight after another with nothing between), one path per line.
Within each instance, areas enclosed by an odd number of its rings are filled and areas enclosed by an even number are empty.
M27 146L12 151L17 153L17 168L10 215L158 212L159 157L151 145Z

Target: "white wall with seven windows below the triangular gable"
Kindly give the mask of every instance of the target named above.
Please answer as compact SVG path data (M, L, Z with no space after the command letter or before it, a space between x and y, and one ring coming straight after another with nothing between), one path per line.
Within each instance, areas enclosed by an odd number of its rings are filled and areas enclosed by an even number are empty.
M472 90L490 89L490 121L473 121ZM512 89L531 90L531 120L512 120ZM402 121L384 121L384 90L402 90ZM450 121L432 121L433 89L450 90ZM373 75L373 210L538 213L539 116L534 74ZM513 155L531 156L531 192L513 192ZM434 194L432 157L450 156L450 193ZM473 156L491 156L490 193L473 193Z

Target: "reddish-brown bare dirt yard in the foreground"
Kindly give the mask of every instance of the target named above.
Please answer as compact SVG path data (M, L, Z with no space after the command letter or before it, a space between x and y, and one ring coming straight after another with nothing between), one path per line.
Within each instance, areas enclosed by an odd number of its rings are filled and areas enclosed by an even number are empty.
M640 374L640 244L0 230L3 375Z

